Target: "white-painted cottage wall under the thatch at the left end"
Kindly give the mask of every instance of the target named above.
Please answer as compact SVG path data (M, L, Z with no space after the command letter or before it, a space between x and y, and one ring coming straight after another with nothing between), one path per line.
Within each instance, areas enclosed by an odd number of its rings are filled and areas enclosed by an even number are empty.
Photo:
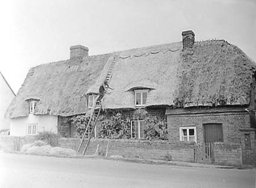
M27 124L38 124L38 132L51 131L57 133L57 116L53 115L33 115L29 114L26 117L11 119L10 135L11 136L26 136Z

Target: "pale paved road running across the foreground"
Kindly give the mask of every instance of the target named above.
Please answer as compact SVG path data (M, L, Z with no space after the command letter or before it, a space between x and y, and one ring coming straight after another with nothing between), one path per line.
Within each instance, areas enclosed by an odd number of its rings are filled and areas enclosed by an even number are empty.
M255 170L0 153L0 187L255 187Z

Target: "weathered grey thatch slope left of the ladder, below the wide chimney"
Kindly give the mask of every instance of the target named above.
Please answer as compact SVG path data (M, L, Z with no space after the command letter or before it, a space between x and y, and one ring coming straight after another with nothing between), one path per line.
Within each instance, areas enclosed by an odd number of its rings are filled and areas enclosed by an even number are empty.
M27 116L27 99L40 99L35 114L69 116L85 113L85 91L100 76L109 57L108 54L89 56L31 68L6 116Z

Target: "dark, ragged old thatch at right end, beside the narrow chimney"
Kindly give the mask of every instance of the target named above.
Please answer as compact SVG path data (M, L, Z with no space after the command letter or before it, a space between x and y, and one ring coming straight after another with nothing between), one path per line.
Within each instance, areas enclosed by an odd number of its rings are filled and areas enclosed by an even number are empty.
M249 105L256 65L224 40L197 42L181 54L177 107Z

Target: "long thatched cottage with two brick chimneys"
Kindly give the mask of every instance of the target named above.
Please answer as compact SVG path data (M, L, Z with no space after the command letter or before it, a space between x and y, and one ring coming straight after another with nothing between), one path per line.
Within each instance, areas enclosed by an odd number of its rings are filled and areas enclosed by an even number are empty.
M255 160L255 62L225 40L195 41L193 31L182 39L97 56L76 45L70 59L31 68L6 112L10 134L59 126L72 136L69 118L92 107L107 78L114 90L103 108L129 118L135 138L146 112L167 119L169 141L242 142Z

